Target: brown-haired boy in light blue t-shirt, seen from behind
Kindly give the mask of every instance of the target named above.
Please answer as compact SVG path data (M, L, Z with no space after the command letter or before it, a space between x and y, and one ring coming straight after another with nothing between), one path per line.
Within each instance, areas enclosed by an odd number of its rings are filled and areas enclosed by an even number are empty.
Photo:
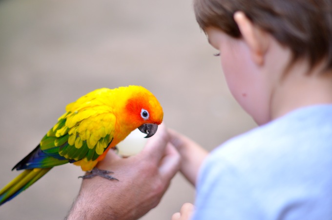
M205 154L191 156L200 148L170 132L182 173L198 176L195 211L187 203L172 220L332 219L332 1L194 0L194 9L231 93L260 126L202 166Z

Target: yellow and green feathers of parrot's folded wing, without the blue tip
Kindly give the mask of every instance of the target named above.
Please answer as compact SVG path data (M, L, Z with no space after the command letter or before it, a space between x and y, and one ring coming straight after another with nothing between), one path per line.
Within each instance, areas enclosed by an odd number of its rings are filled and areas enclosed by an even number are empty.
M100 105L67 112L43 137L41 150L69 162L96 160L113 140L116 117Z

